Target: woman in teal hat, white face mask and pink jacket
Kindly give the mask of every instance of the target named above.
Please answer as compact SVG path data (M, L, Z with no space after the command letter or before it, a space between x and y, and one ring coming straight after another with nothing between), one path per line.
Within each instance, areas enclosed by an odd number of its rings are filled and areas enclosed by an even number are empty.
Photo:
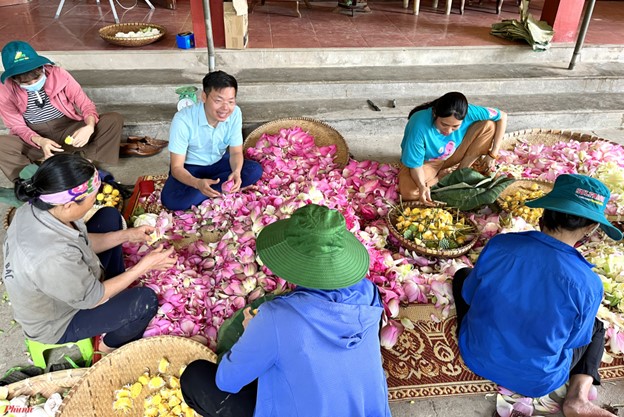
M63 151L118 162L121 115L98 114L80 84L26 42L6 44L2 65L0 116L10 134L0 136L0 170L7 178L15 181L26 165Z

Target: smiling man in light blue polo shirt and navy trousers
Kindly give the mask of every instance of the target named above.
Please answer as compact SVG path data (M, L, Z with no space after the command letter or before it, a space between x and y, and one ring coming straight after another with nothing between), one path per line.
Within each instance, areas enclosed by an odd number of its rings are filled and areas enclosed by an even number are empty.
M207 74L202 102L180 110L169 133L170 175L161 194L170 210L187 210L208 198L254 184L262 167L243 158L243 117L236 105L238 83L223 71Z

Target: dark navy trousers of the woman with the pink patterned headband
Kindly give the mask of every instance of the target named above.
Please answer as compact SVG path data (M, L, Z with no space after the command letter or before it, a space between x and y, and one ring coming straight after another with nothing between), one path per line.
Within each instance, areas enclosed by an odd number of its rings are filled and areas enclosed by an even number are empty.
M87 224L91 233L106 233L121 229L121 215L112 207L98 210ZM112 278L125 271L121 246L98 254L105 277ZM158 298L146 287L126 289L105 303L80 310L69 322L57 343L75 342L106 333L104 343L117 348L140 339L145 328L158 311Z

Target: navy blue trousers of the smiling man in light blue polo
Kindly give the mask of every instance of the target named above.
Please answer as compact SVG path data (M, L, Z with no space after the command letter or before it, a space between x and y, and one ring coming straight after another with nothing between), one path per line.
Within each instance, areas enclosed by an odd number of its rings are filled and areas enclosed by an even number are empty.
M218 184L214 184L212 188L221 192L221 185L227 181L228 176L232 173L230 167L230 154L223 155L218 162L203 166L184 164L184 168L196 178L203 179L219 179ZM255 184L262 176L262 167L256 161L245 159L241 170L241 188ZM182 184L175 179L169 172L169 178L165 182L165 186L160 194L160 201L163 206L169 210L188 210L191 206L198 206L209 197L202 194L198 189Z

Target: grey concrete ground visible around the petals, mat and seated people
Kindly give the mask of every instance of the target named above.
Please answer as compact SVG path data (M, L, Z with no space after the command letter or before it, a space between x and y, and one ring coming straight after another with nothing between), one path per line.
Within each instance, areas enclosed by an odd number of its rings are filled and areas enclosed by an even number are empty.
M596 130L591 133L624 144L624 130ZM163 137L163 139L165 138ZM359 155L355 155L355 157L358 158ZM398 153L396 157L398 159ZM140 175L166 173L168 154L165 151L149 158L122 159L118 166L105 168L109 169L118 181L134 184ZM7 185L6 178L1 178L0 186ZM7 206L0 204L0 216L2 218L4 218L7 208ZM0 239L4 240L4 236L5 230L0 228ZM0 282L0 294L4 294L4 292L4 285ZM28 360L22 331L18 325L13 324L11 308L7 302L0 302L0 330L2 330L0 332L1 375L12 366L25 364ZM624 381L604 383L599 388L598 395L598 403L600 404L624 403ZM390 408L394 417L489 417L495 411L495 397L477 395L423 399L392 403ZM620 409L619 416L624 416L624 409Z

